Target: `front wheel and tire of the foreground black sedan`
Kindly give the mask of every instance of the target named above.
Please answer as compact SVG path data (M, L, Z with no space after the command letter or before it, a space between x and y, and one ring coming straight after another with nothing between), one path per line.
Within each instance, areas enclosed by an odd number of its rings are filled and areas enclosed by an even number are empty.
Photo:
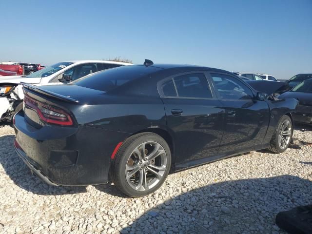
M281 117L271 139L269 150L273 153L283 153L291 143L292 133L292 119L286 115Z

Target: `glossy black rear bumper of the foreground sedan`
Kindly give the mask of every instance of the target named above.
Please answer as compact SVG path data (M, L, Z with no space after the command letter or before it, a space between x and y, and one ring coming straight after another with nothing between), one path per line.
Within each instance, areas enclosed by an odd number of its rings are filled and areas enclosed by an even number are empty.
M129 134L79 125L37 129L15 116L15 148L28 167L51 185L82 186L108 181L111 155Z

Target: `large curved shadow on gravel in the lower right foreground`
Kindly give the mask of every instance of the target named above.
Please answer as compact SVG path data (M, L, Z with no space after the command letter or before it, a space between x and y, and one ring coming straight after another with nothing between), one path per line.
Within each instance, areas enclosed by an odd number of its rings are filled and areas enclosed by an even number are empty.
M309 202L312 181L297 176L219 182L162 202L121 233L284 233L275 215Z

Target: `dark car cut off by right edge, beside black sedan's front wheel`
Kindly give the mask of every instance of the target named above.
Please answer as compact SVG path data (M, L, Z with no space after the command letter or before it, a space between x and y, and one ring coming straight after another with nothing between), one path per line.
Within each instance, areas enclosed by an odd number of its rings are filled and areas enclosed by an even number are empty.
M312 79L307 79L279 98L296 98L299 100L293 119L297 122L312 124Z

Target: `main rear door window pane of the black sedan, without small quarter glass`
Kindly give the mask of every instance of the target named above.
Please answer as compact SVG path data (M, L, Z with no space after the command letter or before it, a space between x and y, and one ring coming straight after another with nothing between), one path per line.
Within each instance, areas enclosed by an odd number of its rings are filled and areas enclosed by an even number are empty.
M178 97L212 98L207 79L203 73L182 75L174 78Z

